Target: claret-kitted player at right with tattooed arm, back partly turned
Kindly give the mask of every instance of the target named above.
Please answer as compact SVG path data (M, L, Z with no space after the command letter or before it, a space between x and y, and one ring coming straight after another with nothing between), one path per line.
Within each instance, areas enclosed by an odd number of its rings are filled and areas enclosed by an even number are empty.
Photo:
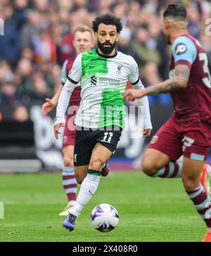
M167 43L172 44L170 79L143 91L128 90L124 98L134 100L171 92L174 113L151 140L143 156L142 170L152 177L181 176L186 193L207 225L203 240L211 242L210 166L205 164L211 145L207 54L198 40L188 34L184 6L170 4L163 17L164 34ZM182 163L177 161L181 155Z

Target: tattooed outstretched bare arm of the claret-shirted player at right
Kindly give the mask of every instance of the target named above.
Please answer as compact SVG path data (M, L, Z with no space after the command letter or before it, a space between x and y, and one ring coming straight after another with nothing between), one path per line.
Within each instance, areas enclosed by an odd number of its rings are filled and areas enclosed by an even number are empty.
M160 83L153 85L146 90L127 90L123 92L124 99L134 101L134 99L142 98L146 95L158 95L160 93L168 93L174 90L184 89L187 87L191 68L185 64L175 66L175 76Z

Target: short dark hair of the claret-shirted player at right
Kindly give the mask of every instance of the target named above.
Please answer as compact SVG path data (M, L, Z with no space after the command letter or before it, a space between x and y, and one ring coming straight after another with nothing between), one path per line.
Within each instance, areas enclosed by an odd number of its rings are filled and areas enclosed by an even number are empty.
M182 18L186 20L186 17L187 17L186 8L181 4L170 4L169 6L167 6L167 8L163 13L164 18L167 16L170 16L173 18Z

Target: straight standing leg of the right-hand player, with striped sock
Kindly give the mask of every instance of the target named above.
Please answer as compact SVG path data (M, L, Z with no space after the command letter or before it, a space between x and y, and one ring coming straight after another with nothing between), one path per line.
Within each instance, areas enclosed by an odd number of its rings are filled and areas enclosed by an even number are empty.
M210 196L207 195L203 185L200 183L200 176L204 164L204 161L184 157L181 178L186 193L193 201L193 205L198 211L198 214L200 214L200 217L205 221L208 233L211 233L211 199Z

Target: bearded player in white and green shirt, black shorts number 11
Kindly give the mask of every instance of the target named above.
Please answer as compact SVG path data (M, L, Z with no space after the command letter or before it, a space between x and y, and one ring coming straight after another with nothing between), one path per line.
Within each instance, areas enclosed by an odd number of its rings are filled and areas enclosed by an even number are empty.
M58 139L72 91L82 80L74 149L75 173L81 186L77 202L63 222L63 227L69 231L75 229L75 219L96 192L103 164L113 155L120 140L125 116L122 92L127 81L134 88L144 88L136 61L115 49L122 30L120 18L110 14L97 17L93 21L93 30L98 48L83 52L75 59L60 93L54 126ZM143 136L147 137L152 129L147 97L141 99L139 105L143 106Z

